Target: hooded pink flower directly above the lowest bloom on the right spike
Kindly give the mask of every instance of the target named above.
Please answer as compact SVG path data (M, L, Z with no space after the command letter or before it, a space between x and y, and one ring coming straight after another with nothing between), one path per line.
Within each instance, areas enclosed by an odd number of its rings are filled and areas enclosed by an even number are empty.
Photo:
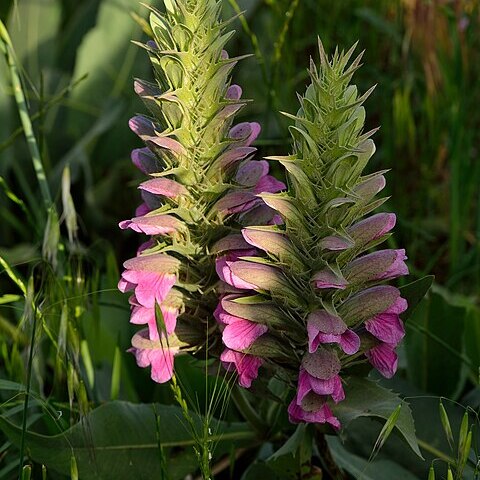
M324 310L311 313L307 318L308 349L317 350L321 343L338 343L342 350L352 355L360 348L360 337L347 328L345 322Z

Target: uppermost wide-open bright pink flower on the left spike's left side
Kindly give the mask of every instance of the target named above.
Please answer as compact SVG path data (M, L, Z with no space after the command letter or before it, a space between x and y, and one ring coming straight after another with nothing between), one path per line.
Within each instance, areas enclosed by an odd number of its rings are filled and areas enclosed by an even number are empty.
M162 253L140 255L127 260L118 282L121 292L135 290L138 303L152 308L161 304L177 280L179 261Z

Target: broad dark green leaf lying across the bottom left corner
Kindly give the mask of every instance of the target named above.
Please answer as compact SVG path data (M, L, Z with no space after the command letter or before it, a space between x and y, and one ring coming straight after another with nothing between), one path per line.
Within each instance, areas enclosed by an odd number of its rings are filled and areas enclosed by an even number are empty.
M191 449L194 441L177 406L155 405L162 425L161 444L167 453L172 480L183 479L197 469ZM69 430L54 436L32 431L25 435L30 457L64 475L70 475L71 458L75 456L82 480L122 480L160 478L160 461L153 405L110 402L93 410ZM199 428L202 418L192 414ZM4 415L0 429L12 443L20 443L22 429ZM241 444L252 439L244 424L212 422L216 455L228 452L232 441Z

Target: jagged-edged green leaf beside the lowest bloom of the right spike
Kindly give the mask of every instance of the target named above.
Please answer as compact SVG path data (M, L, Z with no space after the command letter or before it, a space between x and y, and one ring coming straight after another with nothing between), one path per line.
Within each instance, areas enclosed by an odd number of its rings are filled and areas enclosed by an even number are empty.
M395 422L395 428L406 440L410 448L421 458L415 436L410 406L396 393L381 387L365 378L351 377L345 386L345 400L333 407L334 414L345 428L359 417L379 417L388 420L392 412L401 404L402 408Z

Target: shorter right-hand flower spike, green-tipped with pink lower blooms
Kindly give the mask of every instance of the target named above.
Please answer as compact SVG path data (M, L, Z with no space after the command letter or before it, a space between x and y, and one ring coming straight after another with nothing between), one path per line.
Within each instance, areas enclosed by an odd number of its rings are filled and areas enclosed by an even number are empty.
M395 215L369 215L385 201L375 198L385 178L363 174L375 151L373 131L363 131L372 89L360 95L350 85L362 55L350 62L352 47L327 58L319 47L300 110L287 115L295 122L293 154L271 157L285 167L288 191L259 195L283 224L243 229L262 254L233 249L218 258L222 279L236 290L216 317L225 325L222 359L241 385L249 387L261 365L281 369L296 388L291 422L339 428L332 407L345 397L351 366L369 361L385 377L396 371L407 302L385 282L408 269L403 249L374 251Z

